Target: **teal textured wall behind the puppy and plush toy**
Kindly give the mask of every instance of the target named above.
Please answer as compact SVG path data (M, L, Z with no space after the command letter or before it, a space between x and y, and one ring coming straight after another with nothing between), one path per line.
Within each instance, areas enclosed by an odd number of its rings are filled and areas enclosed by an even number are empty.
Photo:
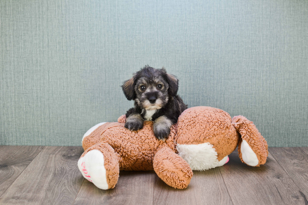
M253 121L269 146L308 146L308 1L0 1L0 144L80 145L133 103L146 64L189 105Z

